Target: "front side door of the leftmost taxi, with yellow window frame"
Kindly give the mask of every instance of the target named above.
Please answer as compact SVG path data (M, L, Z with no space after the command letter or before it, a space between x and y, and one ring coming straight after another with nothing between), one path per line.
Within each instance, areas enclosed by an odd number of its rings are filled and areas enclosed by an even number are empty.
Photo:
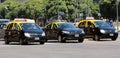
M14 23L13 30L12 30L12 38L14 41L19 41L20 37L20 27L17 23Z

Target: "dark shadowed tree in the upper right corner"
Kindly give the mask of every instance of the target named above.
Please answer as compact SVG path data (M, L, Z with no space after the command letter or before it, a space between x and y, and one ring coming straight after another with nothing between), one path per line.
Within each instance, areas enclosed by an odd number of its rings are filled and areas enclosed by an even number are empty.
M119 1L120 0L118 0L118 2ZM116 18L116 0L103 0L100 8L103 17Z

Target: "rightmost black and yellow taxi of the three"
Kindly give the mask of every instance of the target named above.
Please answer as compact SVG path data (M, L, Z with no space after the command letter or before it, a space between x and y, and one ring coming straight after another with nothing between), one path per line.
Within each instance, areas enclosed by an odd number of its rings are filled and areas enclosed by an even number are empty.
M96 41L105 38L115 41L118 37L118 32L114 26L103 20L81 20L78 22L77 27L85 31L86 38L93 38Z

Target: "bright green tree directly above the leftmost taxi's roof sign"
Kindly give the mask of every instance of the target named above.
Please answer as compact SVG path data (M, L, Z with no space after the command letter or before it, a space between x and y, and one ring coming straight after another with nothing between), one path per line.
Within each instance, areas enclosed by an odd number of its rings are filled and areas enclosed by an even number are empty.
M19 7L18 17L38 19L43 13L43 0L30 0Z

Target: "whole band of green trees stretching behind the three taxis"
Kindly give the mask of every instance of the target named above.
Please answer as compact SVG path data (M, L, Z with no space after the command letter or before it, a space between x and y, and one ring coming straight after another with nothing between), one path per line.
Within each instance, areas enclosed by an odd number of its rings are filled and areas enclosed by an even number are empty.
M120 1L120 0L118 0ZM6 0L0 3L0 15L3 18L31 18L39 19L45 17L50 19L64 12L64 19L74 20L94 16L98 18L100 12L103 17L116 17L116 0ZM119 6L120 7L120 6ZM120 9L119 9L120 11ZM83 13L83 16L80 16Z

